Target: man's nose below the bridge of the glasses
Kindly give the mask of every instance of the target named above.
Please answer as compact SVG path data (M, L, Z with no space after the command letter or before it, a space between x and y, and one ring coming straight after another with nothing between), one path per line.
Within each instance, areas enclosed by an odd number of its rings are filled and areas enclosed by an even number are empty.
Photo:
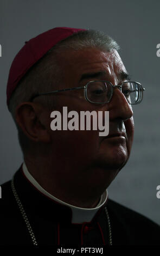
M132 117L133 111L131 105L126 100L119 88L114 88L111 101L108 103L108 111L110 111L110 119L120 118L127 120Z

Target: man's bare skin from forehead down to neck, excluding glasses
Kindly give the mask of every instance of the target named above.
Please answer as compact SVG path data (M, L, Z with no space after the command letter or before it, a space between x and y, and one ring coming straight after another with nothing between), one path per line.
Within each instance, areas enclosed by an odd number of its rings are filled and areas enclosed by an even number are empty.
M126 81L120 76L121 73L126 73L126 69L116 50L65 50L57 56L57 62L62 68L62 83L59 87L55 84L53 89L84 86L93 80L107 80L113 85ZM104 74L79 82L82 74L99 71ZM52 131L51 111L46 108L40 111L43 131L40 132L37 128L35 136L37 141L45 142L45 147L48 145L49 153L34 159L25 156L27 167L36 180L57 198L75 206L92 208L129 159L134 131L131 105L118 88L114 89L112 100L101 105L86 101L83 89L56 93L50 97L55 101L56 109L53 110L61 112L63 106L68 107L68 112L109 111L109 136L119 133L118 136L109 138L100 137L99 131L92 130ZM38 101L39 99L35 99L32 108L36 108ZM28 123L26 122L26 127ZM44 138L47 138L46 141ZM35 138L32 136L30 139L34 141ZM36 172L37 168L39 173Z

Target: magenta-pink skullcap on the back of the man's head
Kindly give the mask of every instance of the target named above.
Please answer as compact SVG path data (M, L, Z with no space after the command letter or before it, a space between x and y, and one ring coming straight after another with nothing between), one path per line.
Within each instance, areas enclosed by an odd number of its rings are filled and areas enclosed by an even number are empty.
M57 27L25 42L25 45L14 58L9 71L7 83L7 105L9 104L10 97L18 82L27 73L31 66L41 59L50 48L57 44L57 42L60 42L74 33L85 30L86 29Z

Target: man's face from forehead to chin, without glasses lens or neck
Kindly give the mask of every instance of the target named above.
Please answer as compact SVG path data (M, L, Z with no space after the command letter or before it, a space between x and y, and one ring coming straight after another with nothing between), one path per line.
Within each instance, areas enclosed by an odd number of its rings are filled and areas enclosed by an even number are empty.
M126 81L126 69L116 50L100 51L96 48L84 50L65 50L57 56L62 69L62 83L57 88L81 87L93 80L110 81L113 85ZM84 74L92 74L84 76ZM82 79L84 77L84 79ZM69 111L109 111L110 132L106 137L99 131L52 131L53 154L59 159L59 167L68 161L66 176L75 176L80 181L90 179L92 184L111 183L129 158L133 141L132 108L118 88L114 89L112 100L105 104L94 104L85 100L84 89L56 93L56 111L62 107ZM52 121L52 119L50 119ZM117 135L116 135L117 134ZM63 159L63 161L62 161ZM60 168L61 169L61 168ZM74 171L73 171L74 170ZM72 173L71 173L72 172ZM64 177L64 172L62 173ZM102 180L99 180L99 177ZM71 181L71 180L70 180Z

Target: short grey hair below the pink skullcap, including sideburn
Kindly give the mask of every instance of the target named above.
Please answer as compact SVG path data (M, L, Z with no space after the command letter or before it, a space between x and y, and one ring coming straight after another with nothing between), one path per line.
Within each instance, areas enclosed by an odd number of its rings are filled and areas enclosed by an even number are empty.
M65 50L82 50L83 48L94 47L102 51L119 50L119 46L110 36L100 31L88 29L69 36L52 47L36 64L34 64L27 74L21 79L9 101L9 111L14 119L16 107L22 102L30 101L31 96L37 93L49 92L53 90L54 84L57 86L61 82L62 70L56 62L56 56ZM54 81L54 82L53 82ZM40 102L46 107L53 107L53 100L49 96L40 97ZM22 151L27 148L28 139L22 131L18 129L18 138ZM25 143L24 143L25 142Z

